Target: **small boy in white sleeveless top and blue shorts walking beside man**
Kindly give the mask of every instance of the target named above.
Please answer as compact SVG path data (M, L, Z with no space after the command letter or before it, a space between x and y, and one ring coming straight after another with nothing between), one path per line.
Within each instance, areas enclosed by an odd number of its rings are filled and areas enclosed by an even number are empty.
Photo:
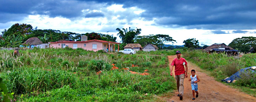
M191 88L192 88L192 94L193 94L193 98L192 100L195 100L195 96L194 96L194 92L196 91L196 97L198 97L198 85L197 82L200 81L200 79L198 78L198 76L196 75L196 71L195 70L191 70L191 79L188 79L188 81L191 81Z

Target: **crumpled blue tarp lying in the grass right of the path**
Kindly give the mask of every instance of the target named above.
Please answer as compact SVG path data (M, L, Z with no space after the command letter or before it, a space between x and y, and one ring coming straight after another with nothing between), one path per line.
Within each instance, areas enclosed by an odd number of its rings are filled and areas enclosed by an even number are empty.
M241 78L240 74L247 71L247 70L251 70L251 72L256 73L256 71L254 71L251 67L246 67L246 68L242 68L240 71L236 72L235 74L233 74L229 78L223 79L222 81L226 82L226 83L232 83L233 80L238 80L239 78ZM229 80L230 80L230 82L229 82Z

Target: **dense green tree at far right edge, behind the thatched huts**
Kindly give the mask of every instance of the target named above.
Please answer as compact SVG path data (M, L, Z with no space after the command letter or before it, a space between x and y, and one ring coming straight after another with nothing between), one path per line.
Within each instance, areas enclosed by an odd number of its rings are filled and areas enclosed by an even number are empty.
M241 37L241 38L235 38L231 43L229 43L230 47L234 49L238 49L241 52L246 52L248 53L253 47L254 49L256 48L256 37Z

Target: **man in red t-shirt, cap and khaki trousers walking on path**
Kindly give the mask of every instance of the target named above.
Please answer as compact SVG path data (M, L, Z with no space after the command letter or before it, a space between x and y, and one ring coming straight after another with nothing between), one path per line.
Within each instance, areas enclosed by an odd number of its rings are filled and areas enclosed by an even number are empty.
M171 73L170 75L172 76L172 69L175 66L175 79L177 83L177 89L178 89L178 96L180 96L180 100L182 100L183 92L184 92L184 87L183 87L183 82L184 78L187 78L187 61L184 58L181 58L181 53L180 51L176 51L177 58L175 58L172 63L171 63ZM184 69L184 65L186 66L186 71Z

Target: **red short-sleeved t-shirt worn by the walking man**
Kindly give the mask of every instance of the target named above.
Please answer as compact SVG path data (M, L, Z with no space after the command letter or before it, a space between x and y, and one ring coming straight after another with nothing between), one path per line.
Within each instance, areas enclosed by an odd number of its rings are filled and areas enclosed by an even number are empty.
M180 75L180 74L185 74L185 68L183 65L183 62L185 62L185 65L187 65L187 61L184 58L181 58L180 60L178 60L177 58L175 58L172 61L172 66L175 66L175 76Z

